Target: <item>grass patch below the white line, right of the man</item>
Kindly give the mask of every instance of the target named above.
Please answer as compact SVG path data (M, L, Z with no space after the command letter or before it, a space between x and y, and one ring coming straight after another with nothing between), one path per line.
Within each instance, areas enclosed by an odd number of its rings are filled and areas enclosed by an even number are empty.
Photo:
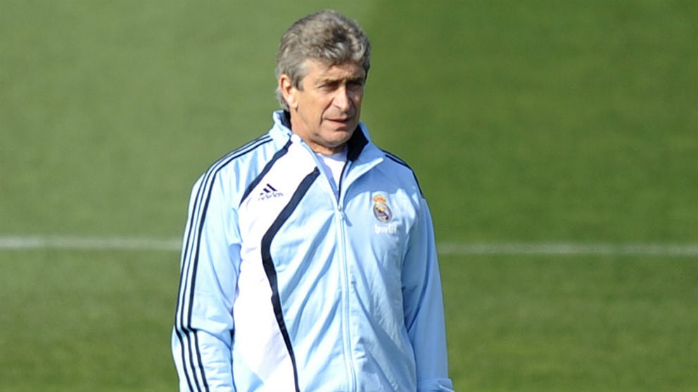
M698 265L442 257L462 391L695 391Z

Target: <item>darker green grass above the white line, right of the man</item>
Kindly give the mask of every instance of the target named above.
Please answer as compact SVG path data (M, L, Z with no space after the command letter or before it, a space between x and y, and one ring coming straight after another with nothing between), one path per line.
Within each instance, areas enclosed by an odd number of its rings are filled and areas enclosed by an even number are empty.
M694 4L384 4L367 117L440 237L695 240Z

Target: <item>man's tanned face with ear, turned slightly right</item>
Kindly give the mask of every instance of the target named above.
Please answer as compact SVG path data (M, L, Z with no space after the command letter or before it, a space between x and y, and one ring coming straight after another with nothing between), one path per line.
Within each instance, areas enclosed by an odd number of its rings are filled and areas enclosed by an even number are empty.
M330 155L343 150L359 124L366 72L356 63L327 66L307 60L299 88L281 75L279 86L291 110L291 128L310 148Z

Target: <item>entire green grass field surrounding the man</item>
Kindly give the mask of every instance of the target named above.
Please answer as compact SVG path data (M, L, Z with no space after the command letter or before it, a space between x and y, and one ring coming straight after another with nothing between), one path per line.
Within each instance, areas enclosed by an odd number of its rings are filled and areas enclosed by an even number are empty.
M0 0L0 244L179 237L326 6L372 38L363 119L439 244L495 249L440 257L457 391L698 391L694 1ZM178 263L0 247L0 391L174 390Z

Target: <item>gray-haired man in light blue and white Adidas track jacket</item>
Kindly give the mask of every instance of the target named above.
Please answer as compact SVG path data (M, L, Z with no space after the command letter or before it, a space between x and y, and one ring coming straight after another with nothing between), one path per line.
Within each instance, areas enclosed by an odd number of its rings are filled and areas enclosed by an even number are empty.
M298 20L274 126L194 185L172 334L183 391L451 390L429 209L359 122L369 64L352 20Z

